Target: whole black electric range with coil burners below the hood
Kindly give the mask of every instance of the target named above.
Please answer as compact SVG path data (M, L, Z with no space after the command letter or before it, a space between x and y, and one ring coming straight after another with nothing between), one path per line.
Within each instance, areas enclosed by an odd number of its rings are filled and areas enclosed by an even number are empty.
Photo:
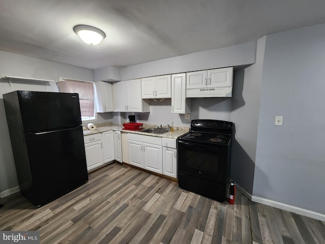
M179 187L223 202L228 192L233 123L197 119L177 140Z

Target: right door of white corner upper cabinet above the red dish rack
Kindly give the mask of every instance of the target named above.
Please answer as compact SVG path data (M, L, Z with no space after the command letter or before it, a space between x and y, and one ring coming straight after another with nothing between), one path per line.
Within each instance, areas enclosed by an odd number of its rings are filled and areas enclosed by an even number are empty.
M142 112L141 79L126 80L127 111Z

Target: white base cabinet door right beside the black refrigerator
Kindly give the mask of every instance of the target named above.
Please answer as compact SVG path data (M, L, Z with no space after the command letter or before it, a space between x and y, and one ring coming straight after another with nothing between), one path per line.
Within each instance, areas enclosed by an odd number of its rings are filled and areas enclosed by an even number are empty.
M103 164L102 141L95 141L85 144L87 170L96 168Z

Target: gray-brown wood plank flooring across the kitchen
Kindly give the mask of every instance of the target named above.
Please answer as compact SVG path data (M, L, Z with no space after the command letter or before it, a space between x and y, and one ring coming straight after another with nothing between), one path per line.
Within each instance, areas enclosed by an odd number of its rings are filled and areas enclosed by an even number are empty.
M324 222L238 191L219 203L117 163L37 209L20 194L1 201L0 230L37 230L41 243L325 243Z

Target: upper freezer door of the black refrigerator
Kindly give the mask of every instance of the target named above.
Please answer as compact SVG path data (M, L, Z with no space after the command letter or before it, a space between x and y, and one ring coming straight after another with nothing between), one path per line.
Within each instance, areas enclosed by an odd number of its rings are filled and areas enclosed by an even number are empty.
M17 91L23 132L81 125L78 94Z

